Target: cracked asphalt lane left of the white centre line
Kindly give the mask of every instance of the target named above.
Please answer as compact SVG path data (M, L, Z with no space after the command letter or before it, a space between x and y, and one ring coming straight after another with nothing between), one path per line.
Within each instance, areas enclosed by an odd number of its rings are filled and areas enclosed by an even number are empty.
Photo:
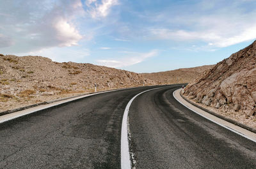
M124 109L151 88L97 94L0 124L0 168L120 168Z

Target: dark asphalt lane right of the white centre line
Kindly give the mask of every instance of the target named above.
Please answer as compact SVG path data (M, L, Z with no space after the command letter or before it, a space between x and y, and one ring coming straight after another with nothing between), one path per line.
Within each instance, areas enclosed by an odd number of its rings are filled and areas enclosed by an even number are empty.
M136 168L256 168L255 142L180 105L176 89L145 92L132 102Z

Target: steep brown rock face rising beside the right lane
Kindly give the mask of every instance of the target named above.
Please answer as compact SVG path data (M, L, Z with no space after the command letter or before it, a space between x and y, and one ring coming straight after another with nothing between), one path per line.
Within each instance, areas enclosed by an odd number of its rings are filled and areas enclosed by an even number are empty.
M184 94L207 106L255 115L256 41L218 62L211 71L189 84Z

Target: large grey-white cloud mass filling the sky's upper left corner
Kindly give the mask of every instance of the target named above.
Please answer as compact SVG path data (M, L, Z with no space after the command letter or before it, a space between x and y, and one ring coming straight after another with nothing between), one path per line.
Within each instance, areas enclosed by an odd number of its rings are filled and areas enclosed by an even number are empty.
M1 33L9 39L0 39L6 53L70 47L83 38L76 26L76 18L84 15L80 0L3 0L0 11L6 16L0 17Z

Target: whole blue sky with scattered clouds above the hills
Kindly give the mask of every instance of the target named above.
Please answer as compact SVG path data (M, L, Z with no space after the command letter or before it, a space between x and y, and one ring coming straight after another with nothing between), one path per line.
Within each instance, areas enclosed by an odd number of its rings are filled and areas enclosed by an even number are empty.
M216 64L256 40L256 0L1 0L0 53L137 73Z

